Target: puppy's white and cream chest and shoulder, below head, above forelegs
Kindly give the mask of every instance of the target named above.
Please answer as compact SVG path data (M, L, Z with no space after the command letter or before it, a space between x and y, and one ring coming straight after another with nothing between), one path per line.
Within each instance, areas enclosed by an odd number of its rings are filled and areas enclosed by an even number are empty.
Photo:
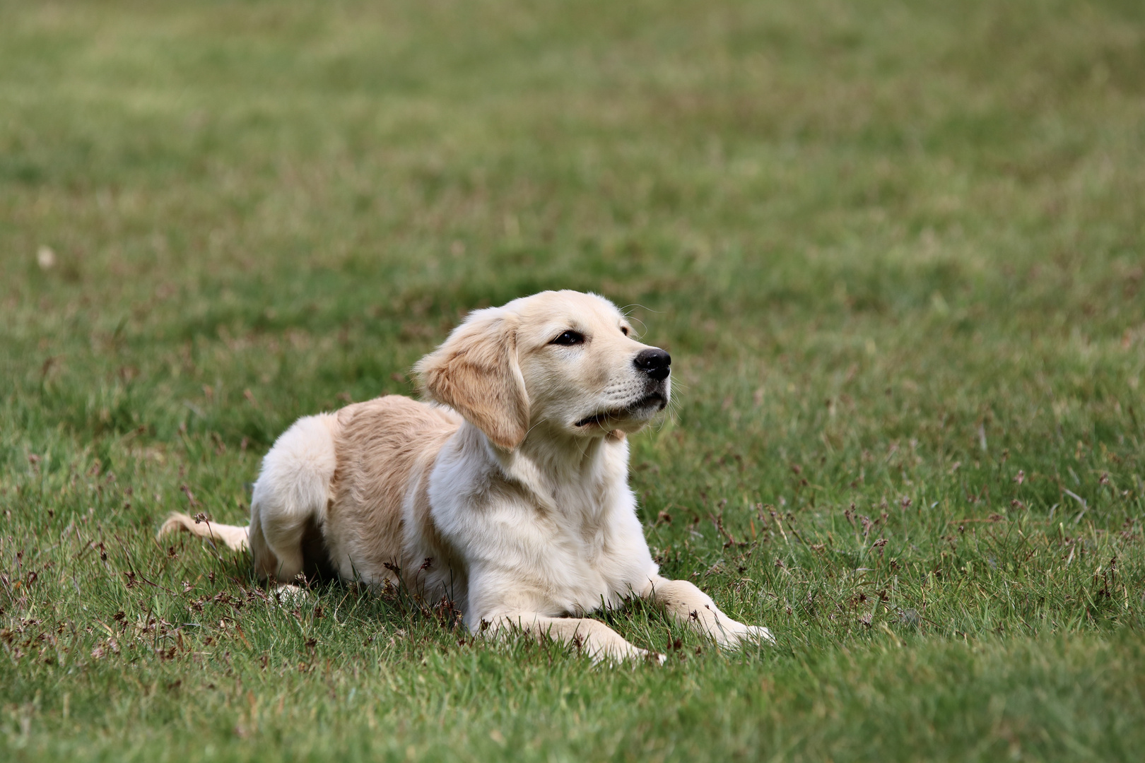
M465 569L467 618L505 607L575 614L647 588L657 571L627 486L626 450L598 455L576 475L523 459L514 468L448 451L439 459L432 517Z

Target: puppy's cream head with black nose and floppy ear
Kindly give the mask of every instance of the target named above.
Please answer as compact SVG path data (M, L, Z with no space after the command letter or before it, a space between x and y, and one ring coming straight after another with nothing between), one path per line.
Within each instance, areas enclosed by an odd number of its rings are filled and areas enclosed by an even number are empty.
M672 359L641 344L608 300L542 292L469 313L416 371L425 392L495 445L634 432L668 405Z

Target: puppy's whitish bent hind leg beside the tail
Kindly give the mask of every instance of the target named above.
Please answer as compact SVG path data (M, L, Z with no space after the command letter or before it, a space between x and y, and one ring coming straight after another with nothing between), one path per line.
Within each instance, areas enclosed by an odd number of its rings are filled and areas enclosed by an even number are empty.
M337 422L333 414L299 419L262 460L250 533L259 578L290 582L302 572L305 535L326 519Z

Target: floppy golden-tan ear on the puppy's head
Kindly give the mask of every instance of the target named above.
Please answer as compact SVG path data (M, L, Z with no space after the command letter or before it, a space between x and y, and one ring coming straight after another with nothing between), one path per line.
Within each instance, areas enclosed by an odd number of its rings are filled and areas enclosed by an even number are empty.
M475 310L414 366L429 398L460 413L507 451L516 450L529 431L516 320L498 308Z

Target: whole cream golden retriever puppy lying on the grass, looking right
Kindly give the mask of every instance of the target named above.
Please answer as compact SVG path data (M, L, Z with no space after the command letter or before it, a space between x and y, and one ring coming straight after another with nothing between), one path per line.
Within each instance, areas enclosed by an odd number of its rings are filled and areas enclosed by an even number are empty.
M472 631L519 628L597 660L650 654L582 617L631 596L722 646L772 641L662 578L648 551L625 438L668 404L670 364L593 294L476 310L417 364L437 405L388 396L299 419L262 462L250 526L176 514L159 533L248 546L279 582L316 561L371 585L401 577L449 597Z

